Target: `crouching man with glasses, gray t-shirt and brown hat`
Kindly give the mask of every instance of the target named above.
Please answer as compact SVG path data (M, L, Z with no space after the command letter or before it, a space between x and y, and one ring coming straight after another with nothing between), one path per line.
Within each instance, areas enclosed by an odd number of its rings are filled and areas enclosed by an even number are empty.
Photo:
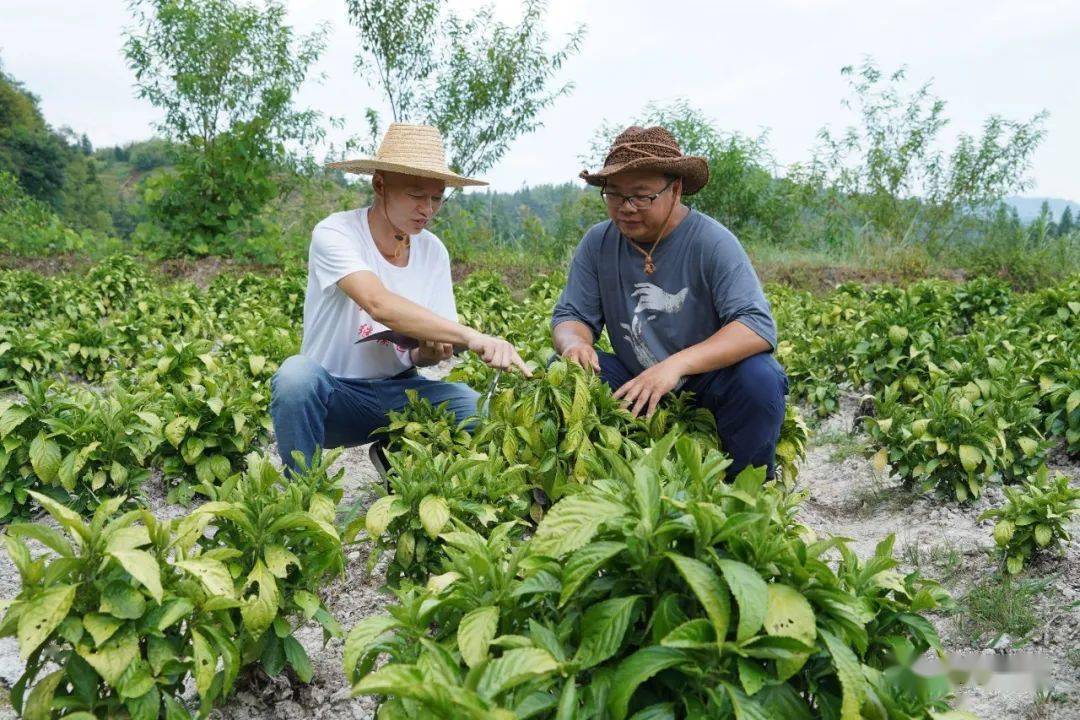
M787 377L742 245L681 203L708 181L705 159L684 155L663 127L634 126L581 177L600 188L610 220L575 253L552 316L556 350L598 371L635 416L692 391L716 417L729 472L767 465L771 477ZM615 354L593 347L604 327Z

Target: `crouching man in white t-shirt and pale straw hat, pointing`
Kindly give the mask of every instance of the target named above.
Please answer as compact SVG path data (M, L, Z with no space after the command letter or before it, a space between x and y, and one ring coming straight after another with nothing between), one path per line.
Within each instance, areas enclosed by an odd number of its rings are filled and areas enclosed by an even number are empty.
M450 259L426 227L447 186L486 182L446 166L438 131L394 123L375 158L329 167L372 175L375 200L334 213L311 233L300 354L271 381L278 450L293 471L294 450L310 463L315 447L368 441L389 411L405 406L407 390L446 403L458 420L473 415L475 391L416 370L449 358L455 345L529 375L509 342L457 322Z

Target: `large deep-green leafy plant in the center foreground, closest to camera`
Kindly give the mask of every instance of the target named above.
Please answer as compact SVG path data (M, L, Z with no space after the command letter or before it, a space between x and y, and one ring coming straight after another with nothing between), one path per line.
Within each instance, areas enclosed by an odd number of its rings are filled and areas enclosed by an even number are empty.
M947 708L943 680L879 669L897 649L940 648L918 612L942 593L895 573L891 544L836 574L820 558L842 541L804 540L797 499L762 468L725 483L723 456L674 435L637 463L604 454L609 479L556 503L521 545L505 525L443 533L447 572L349 634L354 694L401 718Z

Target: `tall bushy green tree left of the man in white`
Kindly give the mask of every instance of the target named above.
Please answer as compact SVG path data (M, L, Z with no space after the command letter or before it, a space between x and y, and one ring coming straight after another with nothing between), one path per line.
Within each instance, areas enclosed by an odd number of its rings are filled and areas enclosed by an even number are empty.
M138 96L164 111L159 130L176 166L147 185L151 216L195 253L228 250L295 165L289 146L321 137L319 114L294 95L325 28L298 37L276 0L135 0L124 54Z

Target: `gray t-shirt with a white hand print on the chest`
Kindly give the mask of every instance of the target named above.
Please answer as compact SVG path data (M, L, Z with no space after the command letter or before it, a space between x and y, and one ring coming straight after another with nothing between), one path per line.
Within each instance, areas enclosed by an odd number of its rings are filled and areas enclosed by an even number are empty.
M635 376L739 321L777 347L777 326L745 250L723 225L698 210L660 241L654 271L611 220L589 229L573 254L552 327L576 320Z

